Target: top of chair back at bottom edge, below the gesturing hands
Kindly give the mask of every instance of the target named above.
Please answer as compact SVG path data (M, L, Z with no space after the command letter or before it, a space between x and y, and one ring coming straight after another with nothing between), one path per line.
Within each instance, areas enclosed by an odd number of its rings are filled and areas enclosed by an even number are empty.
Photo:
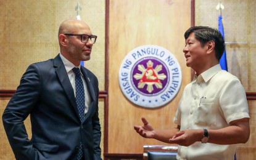
M176 159L177 145L144 145L144 160Z

